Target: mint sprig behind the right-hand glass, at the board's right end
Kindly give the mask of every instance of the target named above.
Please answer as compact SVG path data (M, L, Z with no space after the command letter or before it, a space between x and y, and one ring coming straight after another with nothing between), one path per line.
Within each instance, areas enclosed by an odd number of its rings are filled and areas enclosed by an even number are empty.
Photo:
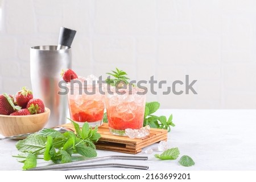
M160 103L157 101L146 103L143 126L150 125L151 128L167 129L168 132L170 132L171 126L175 126L174 122L172 122L172 115L169 116L168 120L166 116L152 115L152 113L158 111L159 108Z

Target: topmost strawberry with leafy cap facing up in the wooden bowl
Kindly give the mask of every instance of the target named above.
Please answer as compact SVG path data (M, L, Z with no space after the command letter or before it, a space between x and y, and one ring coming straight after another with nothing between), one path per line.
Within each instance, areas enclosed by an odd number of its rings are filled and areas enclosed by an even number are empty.
M26 87L22 87L22 90L18 91L15 95L16 104L22 108L27 107L27 103L30 99L33 99L31 90L27 90Z

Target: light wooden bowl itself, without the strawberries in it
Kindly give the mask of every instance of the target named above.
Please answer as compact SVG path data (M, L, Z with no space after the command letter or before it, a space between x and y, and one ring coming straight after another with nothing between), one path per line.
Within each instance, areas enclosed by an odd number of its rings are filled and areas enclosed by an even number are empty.
M26 116L0 115L0 134L5 137L38 132L47 124L51 111L45 108L44 113Z

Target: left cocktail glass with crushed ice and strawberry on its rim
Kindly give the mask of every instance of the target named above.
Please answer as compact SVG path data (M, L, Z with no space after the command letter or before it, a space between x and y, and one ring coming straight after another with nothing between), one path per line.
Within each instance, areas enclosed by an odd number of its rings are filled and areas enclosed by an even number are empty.
M101 126L104 115L104 95L99 92L98 84L67 84L68 102L71 119L80 126L84 122L92 127Z

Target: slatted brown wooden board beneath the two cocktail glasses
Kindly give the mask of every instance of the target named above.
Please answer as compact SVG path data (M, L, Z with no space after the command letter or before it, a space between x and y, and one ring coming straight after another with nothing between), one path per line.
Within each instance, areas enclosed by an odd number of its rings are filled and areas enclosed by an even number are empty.
M71 123L61 125L66 128L73 128ZM167 141L167 130L151 128L149 136L145 138L129 138L124 136L114 136L109 132L109 126L104 123L98 128L101 138L96 143L96 149L117 151L120 153L137 154L146 146L160 141Z

